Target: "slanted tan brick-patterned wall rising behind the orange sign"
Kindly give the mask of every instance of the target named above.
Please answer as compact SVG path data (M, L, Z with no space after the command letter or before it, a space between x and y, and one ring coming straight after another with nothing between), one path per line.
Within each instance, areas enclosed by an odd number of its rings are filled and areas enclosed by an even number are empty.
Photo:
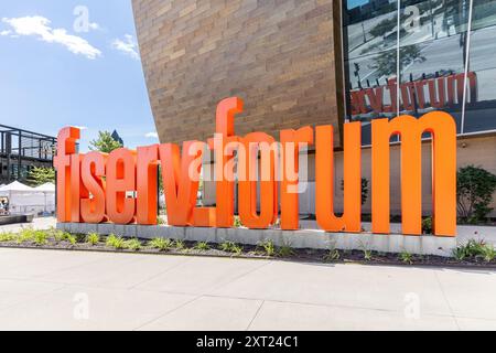
M341 31L338 1L132 4L162 142L205 140L215 130L218 101L239 96L245 113L236 120L238 135L262 130L278 139L281 129L333 124L339 143L341 35L334 35Z

